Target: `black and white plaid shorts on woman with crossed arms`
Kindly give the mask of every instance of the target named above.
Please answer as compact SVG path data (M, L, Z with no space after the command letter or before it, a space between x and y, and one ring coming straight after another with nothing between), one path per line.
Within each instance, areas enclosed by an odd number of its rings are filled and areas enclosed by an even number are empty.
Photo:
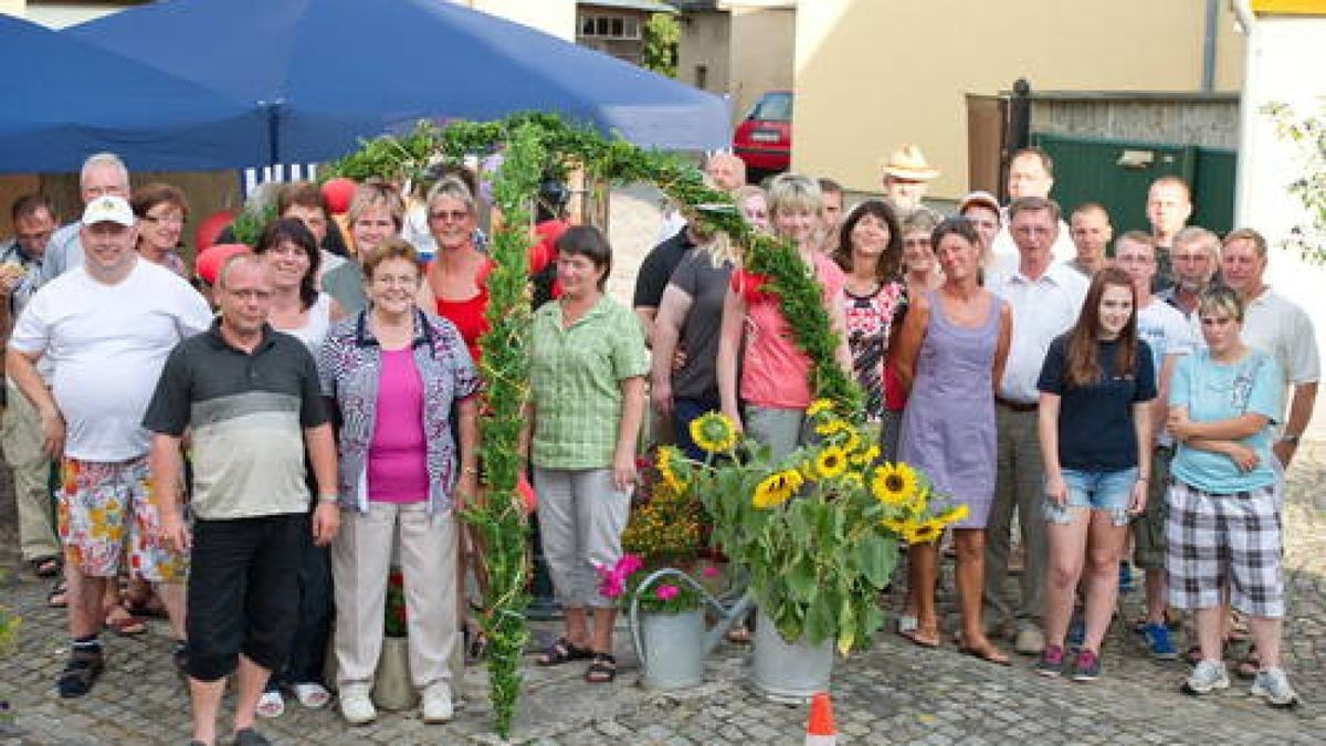
M1236 609L1285 616L1276 494L1274 486L1215 495L1179 481L1170 483L1166 575L1171 605L1219 607L1228 585Z

